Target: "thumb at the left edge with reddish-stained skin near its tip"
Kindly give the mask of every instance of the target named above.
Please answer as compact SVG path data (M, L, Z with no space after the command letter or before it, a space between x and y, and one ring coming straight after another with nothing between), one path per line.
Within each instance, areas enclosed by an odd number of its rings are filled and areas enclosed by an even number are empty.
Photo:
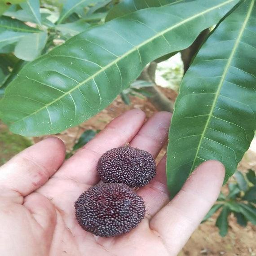
M65 146L61 140L51 137L40 141L0 167L0 188L26 196L43 185L64 158Z

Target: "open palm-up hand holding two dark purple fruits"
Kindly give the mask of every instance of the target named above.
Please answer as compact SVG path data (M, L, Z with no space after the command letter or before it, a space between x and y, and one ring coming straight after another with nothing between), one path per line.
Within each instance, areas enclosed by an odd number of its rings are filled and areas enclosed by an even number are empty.
M96 165L107 150L129 142L156 157L168 138L170 114L144 124L141 110L114 119L63 163L61 140L48 138L0 168L0 255L3 256L169 256L177 255L215 202L224 179L217 161L201 164L169 202L164 157L150 184L137 190L146 215L131 232L96 237L75 219L74 202L95 185Z

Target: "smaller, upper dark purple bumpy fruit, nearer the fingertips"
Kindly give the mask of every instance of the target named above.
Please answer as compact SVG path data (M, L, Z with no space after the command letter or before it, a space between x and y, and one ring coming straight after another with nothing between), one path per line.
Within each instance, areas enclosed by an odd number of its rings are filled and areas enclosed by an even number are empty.
M130 146L108 150L101 156L97 171L105 183L124 183L129 187L141 187L155 177L153 156Z

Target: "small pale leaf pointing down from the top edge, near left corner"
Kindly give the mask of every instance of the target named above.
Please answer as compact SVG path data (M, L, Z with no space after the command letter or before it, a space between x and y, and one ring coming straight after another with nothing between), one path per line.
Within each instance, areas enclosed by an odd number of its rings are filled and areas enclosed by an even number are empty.
M33 22L41 25L39 0L26 0L26 2L21 3L20 6L27 13L27 15L33 20Z

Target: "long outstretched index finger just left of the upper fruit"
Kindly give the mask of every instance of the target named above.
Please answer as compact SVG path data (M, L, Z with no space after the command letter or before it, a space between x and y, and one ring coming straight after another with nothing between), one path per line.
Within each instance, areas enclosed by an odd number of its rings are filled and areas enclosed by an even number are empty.
M141 128L144 120L145 113L141 110L130 110L120 115L68 159L54 177L95 185L99 180L96 172L98 159L107 150L129 142Z

